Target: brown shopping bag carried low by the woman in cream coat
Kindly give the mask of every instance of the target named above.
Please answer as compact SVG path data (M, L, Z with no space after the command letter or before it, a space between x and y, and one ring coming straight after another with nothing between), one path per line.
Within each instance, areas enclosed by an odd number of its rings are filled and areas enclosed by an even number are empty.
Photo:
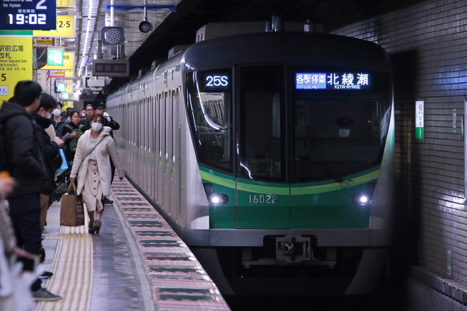
M74 192L71 192L73 187ZM60 225L76 227L84 225L84 209L81 196L76 195L76 185L71 182L68 194L62 195L62 206L60 206Z

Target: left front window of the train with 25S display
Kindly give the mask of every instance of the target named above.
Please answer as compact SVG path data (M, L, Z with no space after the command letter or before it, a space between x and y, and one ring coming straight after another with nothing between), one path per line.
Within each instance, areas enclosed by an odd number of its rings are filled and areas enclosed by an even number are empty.
M232 171L231 69L187 74L188 115L198 160Z

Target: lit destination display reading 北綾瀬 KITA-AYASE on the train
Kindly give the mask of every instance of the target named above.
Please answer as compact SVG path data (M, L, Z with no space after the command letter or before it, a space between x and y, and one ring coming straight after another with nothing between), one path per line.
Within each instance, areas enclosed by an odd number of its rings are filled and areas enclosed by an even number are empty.
M300 72L295 74L296 90L364 90L371 87L365 72Z

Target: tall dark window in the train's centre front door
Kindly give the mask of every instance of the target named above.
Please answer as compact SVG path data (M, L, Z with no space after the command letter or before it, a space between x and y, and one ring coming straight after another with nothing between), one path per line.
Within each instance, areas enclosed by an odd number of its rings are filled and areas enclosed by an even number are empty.
M239 72L240 174L284 182L284 66L241 66Z

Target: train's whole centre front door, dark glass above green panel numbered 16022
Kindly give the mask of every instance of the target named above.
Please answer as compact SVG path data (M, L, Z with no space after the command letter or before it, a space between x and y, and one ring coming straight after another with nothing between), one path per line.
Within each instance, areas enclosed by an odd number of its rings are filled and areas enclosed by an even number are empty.
M240 66L237 228L289 228L284 66Z

